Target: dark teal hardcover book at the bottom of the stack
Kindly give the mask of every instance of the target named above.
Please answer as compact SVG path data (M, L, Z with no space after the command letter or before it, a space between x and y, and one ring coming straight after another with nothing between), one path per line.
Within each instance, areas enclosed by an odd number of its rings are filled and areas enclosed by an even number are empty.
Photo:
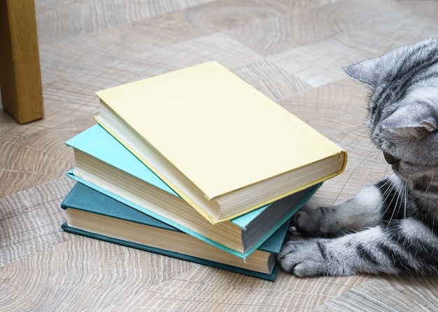
M276 278L276 254L288 237L286 221L244 261L80 183L61 207L66 232L269 281Z

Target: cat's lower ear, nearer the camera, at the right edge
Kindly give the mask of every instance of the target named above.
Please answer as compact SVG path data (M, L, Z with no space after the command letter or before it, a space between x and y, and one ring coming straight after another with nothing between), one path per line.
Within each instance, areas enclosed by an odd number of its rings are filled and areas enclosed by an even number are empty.
M383 129L395 133L421 135L437 131L438 121L430 107L419 103L404 105L382 121Z

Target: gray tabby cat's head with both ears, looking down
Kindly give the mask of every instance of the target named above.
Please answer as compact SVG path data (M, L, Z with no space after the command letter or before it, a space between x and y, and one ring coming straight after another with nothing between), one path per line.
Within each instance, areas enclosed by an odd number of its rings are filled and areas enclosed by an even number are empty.
M344 69L372 89L367 124L394 172L404 180L438 175L438 40Z

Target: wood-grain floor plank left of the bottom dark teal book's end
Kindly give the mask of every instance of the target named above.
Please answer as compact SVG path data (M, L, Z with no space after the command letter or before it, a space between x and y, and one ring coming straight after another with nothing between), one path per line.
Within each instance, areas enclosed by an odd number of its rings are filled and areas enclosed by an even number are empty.
M63 242L60 204L73 187L67 177L0 198L0 267Z

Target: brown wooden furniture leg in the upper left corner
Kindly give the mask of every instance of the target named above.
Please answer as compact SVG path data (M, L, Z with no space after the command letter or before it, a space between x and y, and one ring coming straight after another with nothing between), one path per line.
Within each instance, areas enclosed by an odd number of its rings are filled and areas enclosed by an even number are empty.
M20 124L43 118L34 0L0 0L1 103Z

